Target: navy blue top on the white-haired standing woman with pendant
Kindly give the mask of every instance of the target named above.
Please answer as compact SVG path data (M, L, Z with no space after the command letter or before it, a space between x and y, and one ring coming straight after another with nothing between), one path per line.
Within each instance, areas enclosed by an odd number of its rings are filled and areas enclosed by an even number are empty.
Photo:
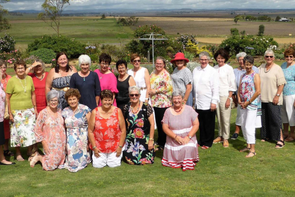
M89 75L85 77L74 73L71 77L70 88L77 88L81 94L79 103L86 105L91 110L97 107L95 97L100 95L100 82L98 75L90 71Z

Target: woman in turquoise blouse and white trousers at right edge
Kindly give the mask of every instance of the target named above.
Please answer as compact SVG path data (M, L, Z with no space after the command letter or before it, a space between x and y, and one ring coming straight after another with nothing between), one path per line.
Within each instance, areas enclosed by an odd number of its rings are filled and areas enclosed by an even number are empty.
M287 48L284 52L285 60L281 65L287 84L283 89L283 105L281 105L281 119L283 122L283 135L285 141L295 139L295 52L292 48ZM289 135L290 126L290 135Z

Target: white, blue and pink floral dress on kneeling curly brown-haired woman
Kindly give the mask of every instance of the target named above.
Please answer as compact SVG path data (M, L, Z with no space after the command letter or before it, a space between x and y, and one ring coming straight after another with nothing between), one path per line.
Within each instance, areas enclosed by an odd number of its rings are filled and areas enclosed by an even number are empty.
M65 164L58 168L67 168L71 172L77 172L91 162L90 154L87 152L88 123L86 120L86 114L90 111L89 107L82 104L78 104L75 114L71 107L63 110L62 116L67 128L67 157Z

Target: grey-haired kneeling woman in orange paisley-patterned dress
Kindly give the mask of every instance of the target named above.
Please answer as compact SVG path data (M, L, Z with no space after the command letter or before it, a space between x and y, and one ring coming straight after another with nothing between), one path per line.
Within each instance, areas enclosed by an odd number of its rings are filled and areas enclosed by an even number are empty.
M46 98L48 106L40 111L34 130L36 141L42 143L44 155L36 152L30 166L34 167L40 161L43 170L55 170L65 162L65 126L61 110L57 108L58 91L51 90Z

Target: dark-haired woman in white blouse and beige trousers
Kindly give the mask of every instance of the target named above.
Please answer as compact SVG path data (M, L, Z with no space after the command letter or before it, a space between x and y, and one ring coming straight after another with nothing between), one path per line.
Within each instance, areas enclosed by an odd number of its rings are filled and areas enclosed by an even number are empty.
M223 142L223 147L228 147L230 137L230 111L232 103L232 93L237 90L235 85L235 74L232 67L226 62L230 58L225 49L219 49L214 54L214 59L218 65L214 66L219 76L219 100L216 116L218 122L218 137L213 143Z

